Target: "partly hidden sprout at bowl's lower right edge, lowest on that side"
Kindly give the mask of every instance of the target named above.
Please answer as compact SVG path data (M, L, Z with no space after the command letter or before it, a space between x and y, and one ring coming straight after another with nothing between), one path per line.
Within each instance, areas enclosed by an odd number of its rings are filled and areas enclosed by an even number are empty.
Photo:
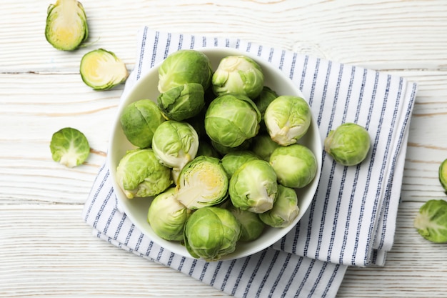
M298 216L298 197L295 189L278 184L278 197L273 208L259 214L259 219L271 227L287 227Z

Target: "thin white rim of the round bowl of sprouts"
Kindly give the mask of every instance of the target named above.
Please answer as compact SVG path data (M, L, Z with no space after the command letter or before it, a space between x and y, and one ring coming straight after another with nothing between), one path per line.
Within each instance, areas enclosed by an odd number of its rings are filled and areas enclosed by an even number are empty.
M256 56L255 54L252 54L250 52L242 51L241 49L219 47L219 46L205 46L205 47L194 48L194 50L201 51L204 54L206 54L207 56L214 55L214 56L221 56L221 58L224 58L224 56L231 56L231 55L248 56L249 58L253 59L261 66L261 69L263 69L264 74L266 74L266 71L268 71L268 74L272 78L274 77L275 79L282 81L283 84L286 84L288 86L288 89L295 91L295 94L281 94L281 92L278 92L279 95L301 96L303 99L306 100L306 102L308 102L308 100L306 99L305 96L303 96L303 93L298 88L298 86L288 76L286 76L286 74L284 74L283 71L281 71L281 69L279 69L277 66L271 64L271 62L267 61L266 59L263 59L260 56ZM119 122L119 117L120 117L125 106L127 106L131 102L138 100L134 97L136 96L137 93L139 93L138 92L139 89L142 89L142 88L144 89L144 85L145 85L146 81L148 80L148 78L150 78L151 76L154 76L155 74L156 74L156 77L158 78L158 69L162 63L163 63L163 60L154 64L154 66L152 66L150 69L148 69L143 74L141 74L139 79L134 83L133 86L130 87L129 90L126 91L126 89L124 89L125 90L124 92L126 92L126 93L121 95L121 99L120 99L118 108L115 112L112 128L110 131L108 153L107 153L106 161L109 164L109 172L111 175L111 182L112 182L112 186L114 188L114 192L116 194L116 199L117 199L117 204L119 205L119 210L124 212L126 214L126 217L129 217L129 219L135 225L135 227L137 229L139 229L139 231L141 231L141 233L143 233L147 237L149 237L149 239L151 239L151 241L154 242L155 244L158 244L160 247L163 247L164 249L167 249L170 252L179 254L182 257L189 257L189 258L195 259L194 257L191 256L191 254L189 254L189 252L187 252L184 245L180 244L179 242L170 242L170 241L162 239L161 237L156 235L151 230L151 227L149 226L147 221L146 221L145 227L143 227L140 224L140 222L141 222L140 219L136 218L136 215L131 212L131 210L129 209L129 204L134 204L135 200L141 201L141 199L144 199L144 198L127 199L126 196L124 195L124 192L122 192L121 187L119 186L118 182L116 181L116 175L115 175L116 167L115 168L112 167L112 166L117 165L119 162L119 161L116 162L116 159L114 159L115 136L116 136L117 130L118 131L121 130L121 124ZM215 67L214 67L214 69L215 69ZM271 73L271 71L273 71L273 73ZM158 80L157 80L157 84L158 84ZM159 91L156 90L156 93L159 94ZM152 100L154 100L154 99L152 99ZM321 177L323 146L322 146L320 133L318 130L318 125L316 124L316 117L314 116L313 113L312 113L312 117L311 117L311 126L309 127L308 132L303 137L303 139L306 139L306 136L308 136L310 131L312 134L311 139L312 139L312 143L313 143L312 151L316 156L316 161L317 161L317 166L318 166L317 172L316 172L316 177L314 177L313 181L310 184L308 184L308 186L306 187L306 192L309 192L308 197L311 197L311 199L306 197L307 200L304 203L304 205L302 205L300 207L300 210L298 212L298 217L296 217L296 219L289 226L283 227L283 228L267 227L267 229L273 229L273 231L274 231L273 234L275 235L274 239L267 239L267 240L264 239L264 242L262 242L263 245L257 245L254 247L251 247L250 244L246 245L243 242L238 243L236 245L235 252L227 254L226 256L219 259L219 261L239 259L242 257L248 257L249 255L255 254L257 252L261 252L263 249L266 249L266 248L270 247L271 245L273 245L274 243L280 241L281 238L283 238L286 234L288 234L288 232L290 232L293 229L293 227L295 227L296 224L298 224L298 222L301 220L301 218L303 217L303 214L306 212L306 210L310 206L311 202L313 201L313 197L316 194L316 190L318 188L318 182ZM121 133L122 133L122 130L121 130ZM299 199L300 198L298 197L298 200ZM136 204L138 204L138 203L136 203ZM147 211L146 211L146 214L147 214ZM264 231L264 233L265 233L265 231ZM241 249L241 247L242 247L242 249ZM238 248L241 250L238 250Z

